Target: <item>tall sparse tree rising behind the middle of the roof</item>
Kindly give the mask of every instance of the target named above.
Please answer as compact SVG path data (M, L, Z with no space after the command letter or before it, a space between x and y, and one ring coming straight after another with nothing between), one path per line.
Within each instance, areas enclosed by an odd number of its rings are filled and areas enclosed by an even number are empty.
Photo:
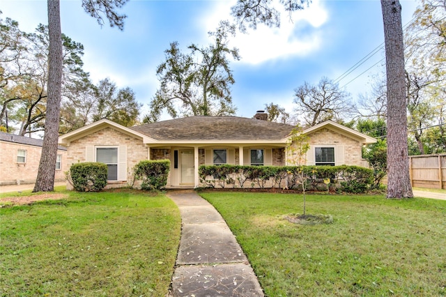
M229 36L235 28L229 22L220 22L217 31L210 32L214 43L208 47L190 45L183 53L178 43L171 43L165 51L166 61L157 67L160 89L150 103L151 112L144 122L160 118L162 111L178 116L224 116L235 114L231 85L234 84L229 57L238 60L238 50L229 48Z

